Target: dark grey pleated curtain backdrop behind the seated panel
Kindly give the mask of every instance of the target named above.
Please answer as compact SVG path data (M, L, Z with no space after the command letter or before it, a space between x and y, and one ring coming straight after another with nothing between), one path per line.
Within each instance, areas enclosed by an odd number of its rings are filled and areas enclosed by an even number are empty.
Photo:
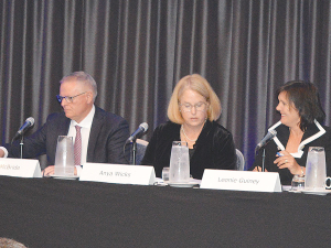
M0 0L1 141L61 111L58 82L74 71L96 79L96 105L131 131L147 121L149 140L175 83L199 73L252 165L284 83L313 82L330 125L330 0Z

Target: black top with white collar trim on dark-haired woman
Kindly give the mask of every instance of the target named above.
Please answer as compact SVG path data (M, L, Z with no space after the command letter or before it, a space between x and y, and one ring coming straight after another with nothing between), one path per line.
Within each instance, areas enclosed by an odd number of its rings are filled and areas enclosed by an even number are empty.
M253 166L260 166L263 164L263 150L266 150L265 157L265 169L269 172L278 172L280 182L282 185L290 185L293 175L288 169L278 169L274 161L277 159L276 153L278 151L284 151L290 134L289 128L282 125L280 121L274 125L270 130L276 130L277 136L267 145L259 150ZM305 131L301 142L298 148L298 152L291 153L295 157L297 163L300 166L306 166L308 149L309 147L323 147L325 151L325 162L327 162L327 174L331 175L331 132L330 128L321 126L318 121L310 125Z

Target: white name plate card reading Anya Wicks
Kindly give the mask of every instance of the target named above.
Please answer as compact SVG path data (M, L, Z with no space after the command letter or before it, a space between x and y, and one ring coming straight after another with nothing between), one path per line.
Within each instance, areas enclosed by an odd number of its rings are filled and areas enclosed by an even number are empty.
M79 181L151 185L156 182L156 172L153 166L86 163Z

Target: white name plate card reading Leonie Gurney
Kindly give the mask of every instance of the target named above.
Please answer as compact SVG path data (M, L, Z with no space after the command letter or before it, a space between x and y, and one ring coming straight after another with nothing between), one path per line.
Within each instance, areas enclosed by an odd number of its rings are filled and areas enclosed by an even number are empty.
M277 172L204 170L200 188L281 192Z

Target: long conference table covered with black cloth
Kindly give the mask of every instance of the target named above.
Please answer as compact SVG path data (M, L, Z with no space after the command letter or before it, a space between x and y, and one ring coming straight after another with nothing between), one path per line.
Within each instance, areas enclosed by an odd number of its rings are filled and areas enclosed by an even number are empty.
M331 195L0 176L0 237L36 247L328 247Z

